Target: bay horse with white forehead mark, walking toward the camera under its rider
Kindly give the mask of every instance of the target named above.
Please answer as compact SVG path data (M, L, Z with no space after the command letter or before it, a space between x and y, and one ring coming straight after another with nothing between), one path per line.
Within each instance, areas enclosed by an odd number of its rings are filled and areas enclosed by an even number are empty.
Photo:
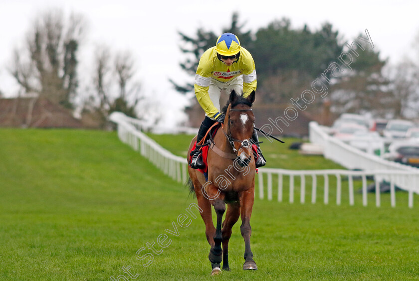
M221 272L221 261L222 270L230 270L228 241L231 237L231 228L239 217L241 217L240 232L245 245L243 270L257 270L250 250L250 216L256 173L251 147L255 122L251 106L254 100L254 91L247 98L238 96L234 91L231 92L224 123L213 136L208 150L208 180L199 170L191 167L188 169L191 192L195 192L198 205L202 209L201 217L210 244L211 275ZM191 141L188 155L196 139L197 137ZM211 206L216 213L216 227L212 221ZM225 210L225 219L221 223Z

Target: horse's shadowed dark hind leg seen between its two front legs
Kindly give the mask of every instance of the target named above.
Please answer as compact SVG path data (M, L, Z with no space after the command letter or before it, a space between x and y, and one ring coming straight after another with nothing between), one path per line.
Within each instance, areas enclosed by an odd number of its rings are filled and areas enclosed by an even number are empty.
M228 241L231 237L231 228L237 222L240 216L240 204L228 204L227 212L225 213L225 220L222 223L222 270L229 271L228 266Z

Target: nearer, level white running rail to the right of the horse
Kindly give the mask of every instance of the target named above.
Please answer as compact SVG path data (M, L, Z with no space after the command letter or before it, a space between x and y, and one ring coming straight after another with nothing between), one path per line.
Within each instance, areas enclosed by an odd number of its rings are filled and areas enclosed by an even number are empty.
M266 174L266 176L265 176ZM276 177L276 178L274 178ZM288 190L285 190L285 180L288 178ZM307 180L308 179L308 180ZM311 179L311 184L310 184ZM265 190L267 192L266 197L268 200L272 200L273 195L273 182L274 180L278 183L277 188L277 200L278 202L285 201L284 193L288 193L288 202L294 203L295 193L300 194L300 203L304 204L306 197L311 197L311 203L316 203L318 200L318 194L323 192L324 204L329 204L330 197L332 194L336 194L336 204L342 204L343 195L343 181L347 180L347 191L348 192L348 203L353 206L355 204L355 182L361 181L362 186L362 205L368 205L368 193L369 187L374 186L373 192L375 192L375 205L381 206L381 188L383 185L388 184L390 190L390 203L392 207L396 206L396 182L403 182L405 189L408 191L408 205L410 208L413 207L414 199L414 188L419 183L419 174L413 174L408 171L389 171L389 170L376 170L376 171L351 171L351 170L284 170L284 169L271 169L261 168L258 172L258 185L259 185L259 198L265 198ZM295 185L295 181L300 181L300 186ZM336 186L332 186L331 181L336 181ZM385 182L383 181L385 180ZM323 184L320 185L319 181ZM368 184L368 181L373 183ZM346 186L345 186L346 187ZM311 188L311 190L310 190ZM332 190L334 189L334 190ZM332 192L333 191L333 192ZM306 193L309 192L309 193Z

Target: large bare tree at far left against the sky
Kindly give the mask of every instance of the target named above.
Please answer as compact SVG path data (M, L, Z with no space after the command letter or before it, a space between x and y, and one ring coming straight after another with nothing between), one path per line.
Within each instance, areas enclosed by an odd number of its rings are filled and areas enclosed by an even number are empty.
M78 86L77 51L84 26L83 16L72 14L64 20L61 10L46 11L34 20L23 50L14 49L9 68L26 93L35 92L72 108Z

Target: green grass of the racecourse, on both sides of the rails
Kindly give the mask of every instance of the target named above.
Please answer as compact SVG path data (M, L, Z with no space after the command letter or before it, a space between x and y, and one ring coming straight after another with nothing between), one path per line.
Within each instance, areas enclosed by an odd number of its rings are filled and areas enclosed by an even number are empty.
M252 251L259 270L241 270L237 223L231 272L210 277L201 218L190 215L188 227L177 222L196 199L116 133L0 129L0 136L0 280L419 279L418 212L399 201L376 208L256 199ZM153 137L181 156L191 139ZM271 166L340 168L299 156L287 149L292 141L262 144ZM157 245L161 234L166 248ZM148 258L136 259L142 248L141 255L153 254L148 267Z

